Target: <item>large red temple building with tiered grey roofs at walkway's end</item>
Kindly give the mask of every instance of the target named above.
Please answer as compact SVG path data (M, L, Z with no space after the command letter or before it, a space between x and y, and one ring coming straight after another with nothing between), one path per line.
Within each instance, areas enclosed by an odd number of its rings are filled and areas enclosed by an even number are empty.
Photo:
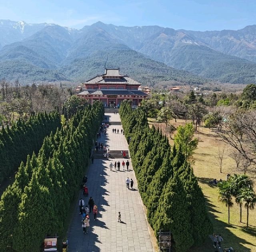
M138 106L140 102L148 96L138 90L141 85L127 75L121 75L118 69L105 69L103 75L98 75L85 83L85 90L76 94L82 98L94 102L100 100L104 106L120 106L122 100L132 100L133 106Z

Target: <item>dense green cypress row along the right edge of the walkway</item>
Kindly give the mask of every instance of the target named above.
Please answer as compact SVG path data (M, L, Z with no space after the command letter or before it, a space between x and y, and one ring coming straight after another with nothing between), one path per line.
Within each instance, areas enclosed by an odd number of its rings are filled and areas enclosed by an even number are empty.
M119 110L138 189L157 236L171 230L172 251L185 252L212 232L205 199L182 148L171 150L168 138L149 127L145 113L122 102Z

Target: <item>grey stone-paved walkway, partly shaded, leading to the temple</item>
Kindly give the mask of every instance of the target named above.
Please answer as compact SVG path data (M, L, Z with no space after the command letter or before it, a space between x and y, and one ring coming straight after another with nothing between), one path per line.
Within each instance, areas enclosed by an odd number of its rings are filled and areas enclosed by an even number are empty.
M110 121L120 121L119 114L106 114ZM112 133L112 128L119 128L119 134ZM113 125L107 135L100 138L110 150L128 150L125 137L120 134L122 126ZM118 159L110 159L112 163ZM127 160L127 159L126 159ZM126 162L125 160L125 162ZM122 160L119 160L122 163ZM132 162L127 171L110 171L108 160L94 159L90 165L88 177L89 197L98 206L98 220L94 221L90 213L90 230L82 231L82 217L79 207L74 209L68 232L70 252L153 252L148 224L144 215L142 202L137 191L137 181L132 170ZM126 188L125 179L134 180L134 191ZM87 205L89 197L80 193ZM121 212L122 223L117 222Z

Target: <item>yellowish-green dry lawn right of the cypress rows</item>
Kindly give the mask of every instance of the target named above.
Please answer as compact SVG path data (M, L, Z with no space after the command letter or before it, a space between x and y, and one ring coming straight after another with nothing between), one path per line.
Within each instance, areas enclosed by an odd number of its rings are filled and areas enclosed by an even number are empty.
M149 118L149 123L154 120ZM170 121L175 127L185 124L185 120ZM155 123L155 126L164 128L164 123ZM198 149L194 158L194 174L198 178L198 183L202 188L206 199L206 206L209 217L214 226L214 232L221 234L223 247L234 248L236 252L255 252L256 251L256 209L249 211L249 229L246 230L246 209L242 209L242 223L240 223L240 208L234 203L234 207L230 209L230 224L228 224L228 209L224 204L218 201L218 188L216 185L210 184L213 179L226 180L226 175L234 174L234 160L228 157L228 146L220 142L214 137L214 132L209 134L208 128L199 127L199 133L195 133L195 137L199 138ZM175 134L175 133L174 133ZM171 145L173 140L170 139ZM222 173L216 163L216 151L218 147L225 147L225 157L222 166ZM255 179L255 178L254 178ZM210 239L199 247L190 249L190 252L212 252L214 248Z

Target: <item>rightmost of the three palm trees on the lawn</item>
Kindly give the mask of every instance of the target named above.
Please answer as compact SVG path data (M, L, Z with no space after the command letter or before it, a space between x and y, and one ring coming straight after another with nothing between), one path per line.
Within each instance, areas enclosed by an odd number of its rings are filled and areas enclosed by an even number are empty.
M248 228L249 209L254 209L254 204L256 203L256 194L252 188L243 188L240 190L237 198L239 203L245 202L244 207L247 209L246 228Z

